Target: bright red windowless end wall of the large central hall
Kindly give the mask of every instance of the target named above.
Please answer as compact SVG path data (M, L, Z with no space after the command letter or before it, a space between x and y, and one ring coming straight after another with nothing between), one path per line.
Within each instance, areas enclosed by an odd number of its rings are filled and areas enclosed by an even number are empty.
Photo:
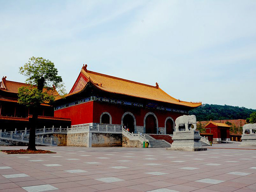
M71 125L92 123L93 101L54 111L54 117L70 118Z

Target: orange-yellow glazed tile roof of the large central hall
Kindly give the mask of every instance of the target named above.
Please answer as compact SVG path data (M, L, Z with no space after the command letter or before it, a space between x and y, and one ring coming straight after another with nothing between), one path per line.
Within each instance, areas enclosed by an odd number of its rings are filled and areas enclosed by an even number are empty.
M87 66L86 66L87 67ZM178 99L175 99L168 95L166 92L164 92L162 89L158 87L158 84L156 83L156 86L142 84L114 76L109 76L93 71L89 71L86 69L86 67L83 67L81 70L81 73L89 79L88 81L92 82L98 89L111 92L111 93L117 93L117 94L123 94L128 95L132 97L138 97L143 99L149 99L149 100L155 100L155 101L161 101L176 105L183 105L187 107L198 107L202 105L201 102L194 103L194 102L187 102L187 101L181 101ZM84 88L86 85L84 86ZM81 92L84 90L81 89L78 92ZM73 95L78 92L73 92L68 94Z

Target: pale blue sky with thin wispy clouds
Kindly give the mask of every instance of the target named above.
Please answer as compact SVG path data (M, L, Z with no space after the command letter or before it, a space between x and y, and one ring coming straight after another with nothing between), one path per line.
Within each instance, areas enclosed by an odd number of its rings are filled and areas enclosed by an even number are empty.
M24 82L54 62L69 91L88 69L185 101L256 109L256 1L0 0L0 67Z

